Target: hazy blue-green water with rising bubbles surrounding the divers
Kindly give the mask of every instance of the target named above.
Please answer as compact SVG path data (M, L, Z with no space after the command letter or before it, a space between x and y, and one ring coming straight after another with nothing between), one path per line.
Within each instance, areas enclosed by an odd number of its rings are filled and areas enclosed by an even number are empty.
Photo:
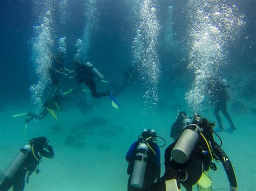
M127 190L125 155L154 129L166 141L162 176L178 111L216 122L208 88L222 78L236 130L218 135L238 189L256 190L254 0L2 0L0 7L0 175L30 139L44 136L55 158L43 158L24 190ZM56 85L49 71L57 53L69 71ZM95 78L97 91L116 100L78 84L75 60L91 62L110 82ZM42 117L58 88L57 109ZM25 121L28 112L39 117ZM230 190L221 162L217 168L208 172L212 189Z

